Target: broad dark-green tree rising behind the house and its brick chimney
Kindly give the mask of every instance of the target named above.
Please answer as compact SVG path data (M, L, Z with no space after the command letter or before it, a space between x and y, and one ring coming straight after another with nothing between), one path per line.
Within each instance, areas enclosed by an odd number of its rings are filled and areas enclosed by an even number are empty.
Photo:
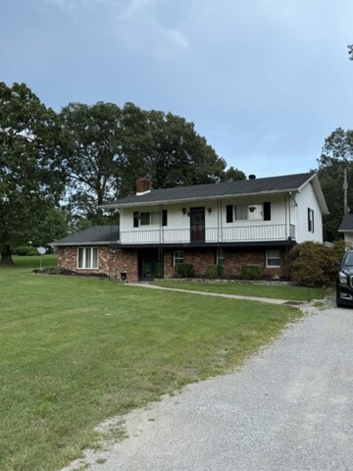
M171 113L145 111L132 103L71 103L61 123L70 136L68 207L93 224L104 222L99 206L131 194L136 178L153 188L243 179L219 158L193 123Z

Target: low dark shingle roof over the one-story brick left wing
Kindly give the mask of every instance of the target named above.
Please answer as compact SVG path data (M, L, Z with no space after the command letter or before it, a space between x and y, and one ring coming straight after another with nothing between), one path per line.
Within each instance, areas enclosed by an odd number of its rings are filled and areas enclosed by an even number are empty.
M98 244L117 240L119 240L119 226L95 226L67 235L52 245Z

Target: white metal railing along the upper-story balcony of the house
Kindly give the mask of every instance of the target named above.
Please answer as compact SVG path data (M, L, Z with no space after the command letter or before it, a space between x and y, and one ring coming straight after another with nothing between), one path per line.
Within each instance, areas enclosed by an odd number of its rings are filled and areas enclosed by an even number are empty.
M290 224L266 224L263 226L207 227L205 242L251 242L286 240L296 237L296 227ZM120 232L121 244L189 244L190 229L152 229ZM197 241L201 242L201 241Z

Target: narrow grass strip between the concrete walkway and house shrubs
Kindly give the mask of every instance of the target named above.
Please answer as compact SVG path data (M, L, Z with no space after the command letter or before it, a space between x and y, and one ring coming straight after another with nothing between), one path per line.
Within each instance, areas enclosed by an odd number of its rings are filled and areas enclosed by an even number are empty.
M182 288L184 290L206 291L214 293L241 294L243 296L259 296L261 298L311 301L327 296L327 290L321 288L305 288L291 285L267 285L251 283L195 283L186 281L158 281L159 286Z

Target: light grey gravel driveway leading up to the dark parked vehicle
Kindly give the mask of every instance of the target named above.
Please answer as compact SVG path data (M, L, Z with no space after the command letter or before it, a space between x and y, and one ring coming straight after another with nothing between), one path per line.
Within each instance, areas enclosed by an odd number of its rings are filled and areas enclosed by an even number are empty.
M90 469L352 470L352 413L353 310L313 309L234 374L128 414Z

